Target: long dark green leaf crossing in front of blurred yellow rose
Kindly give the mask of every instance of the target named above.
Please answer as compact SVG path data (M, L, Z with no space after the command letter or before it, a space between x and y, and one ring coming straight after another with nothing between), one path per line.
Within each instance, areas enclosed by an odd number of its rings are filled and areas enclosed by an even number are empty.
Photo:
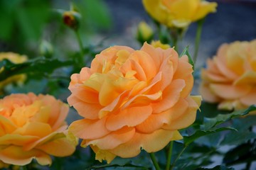
M36 60L28 60L21 64L14 64L13 62L5 59L0 62L0 68L4 67L4 70L0 73L0 81L16 74L31 74L40 78L52 73L59 67L69 66L70 64L73 64L73 62L46 59L44 57Z

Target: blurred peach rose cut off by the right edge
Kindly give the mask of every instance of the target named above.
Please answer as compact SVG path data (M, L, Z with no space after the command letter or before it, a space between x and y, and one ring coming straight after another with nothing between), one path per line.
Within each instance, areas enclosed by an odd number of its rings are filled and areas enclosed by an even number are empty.
M201 77L203 99L220 109L256 104L256 40L221 45Z

